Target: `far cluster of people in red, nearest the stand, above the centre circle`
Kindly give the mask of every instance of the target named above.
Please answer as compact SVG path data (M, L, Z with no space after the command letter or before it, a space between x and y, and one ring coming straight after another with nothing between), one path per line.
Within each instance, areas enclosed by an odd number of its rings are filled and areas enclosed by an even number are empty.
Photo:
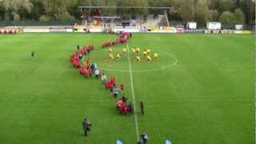
M132 34L121 31L119 33L119 38L115 39L115 41L102 42L102 48L117 46L122 43L126 43L129 38L132 37Z

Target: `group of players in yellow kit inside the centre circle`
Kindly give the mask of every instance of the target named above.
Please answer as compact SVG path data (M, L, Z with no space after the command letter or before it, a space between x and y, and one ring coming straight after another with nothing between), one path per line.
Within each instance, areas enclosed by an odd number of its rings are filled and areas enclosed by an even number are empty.
M133 47L131 49L131 51L132 51L132 54L135 56L136 61L140 62L141 61L141 50L140 50L140 48L139 47L137 47L137 48ZM154 58L154 61L158 60L158 53L154 52L154 54L151 55L152 54L151 51L152 50L150 50L150 49L143 50L143 56L144 56L144 58L146 58L147 62L152 61L151 56ZM110 61L114 60L114 58L116 60L119 60L121 58L121 54L118 53L118 52L114 54L114 52L111 48L109 48L108 52L109 52ZM122 55L126 55L126 54L127 54L127 49L123 48L122 49Z

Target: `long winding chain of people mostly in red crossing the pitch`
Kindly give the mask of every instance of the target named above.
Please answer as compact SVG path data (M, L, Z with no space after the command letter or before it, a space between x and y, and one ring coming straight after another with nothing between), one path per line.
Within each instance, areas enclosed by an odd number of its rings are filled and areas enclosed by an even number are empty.
M126 42L128 38L131 37L131 34L121 32L120 37L116 40L117 42ZM124 40L124 41L123 41ZM118 98L119 91L125 90L125 84L121 83L120 86L116 86L116 79L113 77L107 78L106 74L103 74L102 71L98 70L95 63L90 64L90 59L87 58L86 62L81 62L84 55L90 54L90 51L94 50L94 45L83 46L80 50L80 47L77 46L78 51L70 55L70 62L75 69L79 69L79 73L84 77L91 77L95 75L96 78L102 79L102 84L106 87L106 90L110 90L110 94L117 99L116 108L121 114L133 114L134 108L132 103L127 103L127 98L125 94L122 94L121 98ZM83 64L84 63L84 64Z

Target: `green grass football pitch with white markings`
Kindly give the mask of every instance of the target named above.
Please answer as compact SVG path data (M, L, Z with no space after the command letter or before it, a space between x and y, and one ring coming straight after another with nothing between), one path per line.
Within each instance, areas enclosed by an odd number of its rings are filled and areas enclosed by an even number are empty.
M102 42L115 34L0 35L0 143L253 144L254 36L134 34L113 47L150 48L158 60L133 54L110 62ZM134 115L119 114L96 78L83 78L69 56L94 44L88 56L107 77L124 82ZM31 51L35 57L31 58ZM140 101L145 115L140 112ZM88 137L83 118L92 123Z

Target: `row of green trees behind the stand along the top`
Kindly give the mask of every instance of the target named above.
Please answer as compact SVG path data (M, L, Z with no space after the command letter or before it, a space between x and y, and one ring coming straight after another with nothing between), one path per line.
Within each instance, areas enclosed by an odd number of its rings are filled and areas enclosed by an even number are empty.
M254 0L0 0L1 21L74 21L78 6L170 6L172 21L254 25ZM148 14L153 10L104 9L102 14Z

